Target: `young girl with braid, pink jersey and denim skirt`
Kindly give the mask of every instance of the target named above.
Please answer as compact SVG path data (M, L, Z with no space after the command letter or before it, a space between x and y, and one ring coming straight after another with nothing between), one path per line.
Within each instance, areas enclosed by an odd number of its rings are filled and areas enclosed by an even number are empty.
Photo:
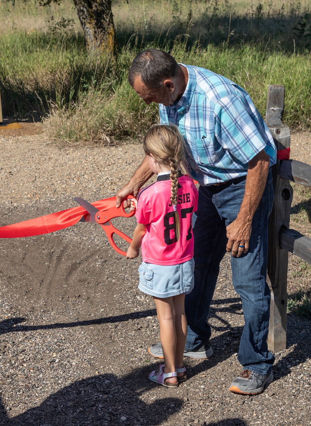
M184 139L177 127L155 125L143 141L150 170L157 181L143 188L136 204L137 226L127 259L139 256L139 289L153 296L160 323L164 364L150 380L177 387L185 381L183 354L187 337L185 294L193 288L192 213L198 191L179 165L185 158Z

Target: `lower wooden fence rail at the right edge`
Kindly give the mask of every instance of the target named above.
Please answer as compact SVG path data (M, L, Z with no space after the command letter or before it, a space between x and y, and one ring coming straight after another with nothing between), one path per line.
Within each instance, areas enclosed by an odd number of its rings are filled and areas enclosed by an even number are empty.
M294 229L280 229L280 247L311 264L311 239Z

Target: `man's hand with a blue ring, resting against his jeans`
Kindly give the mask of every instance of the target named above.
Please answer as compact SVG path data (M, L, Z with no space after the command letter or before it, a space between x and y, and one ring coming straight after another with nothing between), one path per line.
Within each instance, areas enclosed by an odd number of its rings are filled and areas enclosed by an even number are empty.
M232 256L240 257L249 249L249 239L252 233L252 222L240 219L239 216L227 226L227 251L231 251ZM244 247L239 247L239 246Z

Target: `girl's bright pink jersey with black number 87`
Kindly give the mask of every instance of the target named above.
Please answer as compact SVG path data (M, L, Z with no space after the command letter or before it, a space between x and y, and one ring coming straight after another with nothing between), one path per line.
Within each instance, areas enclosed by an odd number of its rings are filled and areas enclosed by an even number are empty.
M177 211L181 225L178 241L170 201L170 174L159 175L154 184L139 192L135 216L137 223L147 225L141 244L144 262L177 265L193 257L192 214L198 207L198 190L189 176L181 176L178 183Z

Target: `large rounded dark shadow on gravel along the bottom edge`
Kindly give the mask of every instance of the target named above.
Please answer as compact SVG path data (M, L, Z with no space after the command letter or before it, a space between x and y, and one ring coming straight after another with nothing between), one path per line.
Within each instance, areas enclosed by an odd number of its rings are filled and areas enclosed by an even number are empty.
M11 418L7 415L6 407L0 403L0 425L71 426L91 423L102 426L120 424L155 426L163 424L170 420L174 412L182 409L184 401L176 395L176 389L168 388L167 396L160 397L150 404L144 402L141 399L144 392L156 391L155 386L157 386L147 380L148 370L150 367L146 366L136 368L120 378L107 373L75 381L50 395L40 406L32 407L14 417L10 415ZM31 389L28 392L31 393ZM13 412L10 411L10 414ZM220 423L245 425L243 420L238 418L228 418L219 423L208 424L216 426Z

